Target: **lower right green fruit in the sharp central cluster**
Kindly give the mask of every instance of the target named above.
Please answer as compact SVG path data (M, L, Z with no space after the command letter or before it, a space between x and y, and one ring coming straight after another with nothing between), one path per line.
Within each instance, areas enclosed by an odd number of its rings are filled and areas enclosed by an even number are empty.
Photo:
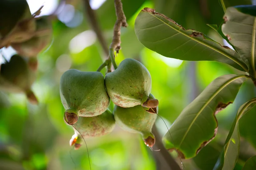
M157 119L157 114L148 113L141 105L132 108L121 108L116 105L113 113L119 127L131 133L140 133L145 144L153 147L155 139L151 129Z

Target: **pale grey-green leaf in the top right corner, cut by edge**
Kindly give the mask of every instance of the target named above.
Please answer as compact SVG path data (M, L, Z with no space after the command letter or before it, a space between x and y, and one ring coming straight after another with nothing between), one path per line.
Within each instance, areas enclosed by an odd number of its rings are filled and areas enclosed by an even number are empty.
M222 31L235 46L236 51L248 66L250 75L256 78L256 17L242 13L248 12L253 14L250 12L250 8L256 9L255 6L235 6L227 8L226 14L224 15L225 23L222 25Z

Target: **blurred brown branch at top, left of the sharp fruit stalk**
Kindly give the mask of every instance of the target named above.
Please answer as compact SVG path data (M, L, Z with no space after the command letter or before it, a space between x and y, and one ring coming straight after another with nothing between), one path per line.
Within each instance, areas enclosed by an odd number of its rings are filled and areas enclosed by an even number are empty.
M86 10L87 18L90 22L90 25L93 28L93 31L96 33L96 36L99 40L100 45L103 48L103 51L104 51L105 55L108 56L107 42L106 42L105 38L103 37L102 30L99 27L99 24L97 22L96 14L93 11L93 9L90 7L89 0L84 0L84 7L85 7L85 10Z

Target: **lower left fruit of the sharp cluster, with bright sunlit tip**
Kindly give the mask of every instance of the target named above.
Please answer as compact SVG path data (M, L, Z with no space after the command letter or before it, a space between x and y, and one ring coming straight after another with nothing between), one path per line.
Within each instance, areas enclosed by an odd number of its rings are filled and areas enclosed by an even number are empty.
M67 123L67 120L64 119L64 121ZM70 139L70 146L75 144L75 149L78 149L83 142L81 135L84 138L104 136L111 133L114 127L115 119L109 110L98 116L79 117L79 120L73 125L75 134Z

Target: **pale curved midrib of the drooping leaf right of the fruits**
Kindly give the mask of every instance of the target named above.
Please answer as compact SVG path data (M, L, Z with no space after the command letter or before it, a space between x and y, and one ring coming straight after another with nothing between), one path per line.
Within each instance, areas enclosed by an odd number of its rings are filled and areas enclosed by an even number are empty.
M181 146L181 144L183 143L184 139L186 138L187 133L189 132L190 128L192 127L192 125L194 124L195 120L198 118L198 116L201 114L201 112L204 110L204 108L206 108L206 106L212 101L212 99L220 92L222 91L227 85L229 85L231 82L233 82L236 79L239 79L241 77L246 77L245 75L240 75L237 77L234 77L232 79L230 79L229 81L227 81L225 84L223 84L218 91L216 91L210 98L209 100L204 104L204 106L198 111L197 115L195 116L195 118L193 119L193 121L191 122L191 124L189 125L189 128L186 130L185 135L183 136L183 138L181 139L181 142L179 144L179 146Z

